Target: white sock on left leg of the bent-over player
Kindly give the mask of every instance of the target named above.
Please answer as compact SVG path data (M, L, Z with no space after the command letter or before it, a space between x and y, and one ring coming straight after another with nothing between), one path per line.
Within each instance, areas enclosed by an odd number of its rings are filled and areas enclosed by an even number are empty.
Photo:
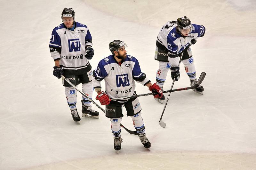
M169 62L159 61L159 69L156 72L156 82L160 88L164 86L164 81L171 65Z

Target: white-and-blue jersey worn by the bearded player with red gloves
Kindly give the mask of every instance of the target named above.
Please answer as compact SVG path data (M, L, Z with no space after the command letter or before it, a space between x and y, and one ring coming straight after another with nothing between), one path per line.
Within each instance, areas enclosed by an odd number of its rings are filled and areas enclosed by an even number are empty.
M132 96L135 93L135 81L142 85L150 82L145 73L140 70L138 60L131 55L119 65L113 55L100 60L93 71L92 84L94 88L101 88L100 81L105 81L105 91L109 98ZM118 102L125 102L123 99Z

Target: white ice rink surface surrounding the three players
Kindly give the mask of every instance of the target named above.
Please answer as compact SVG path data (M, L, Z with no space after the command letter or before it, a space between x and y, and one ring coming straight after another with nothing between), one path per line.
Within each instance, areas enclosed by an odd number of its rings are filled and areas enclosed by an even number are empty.
M1 170L256 169L254 0L0 0L0 6ZM204 96L192 90L171 93L162 119L165 128L158 124L164 104L153 96L139 98L150 151L122 129L122 149L116 154L110 121L95 106L100 119L82 118L80 125L72 120L61 80L52 75L49 51L52 29L61 23L65 7L72 7L76 21L92 34L93 69L111 54L109 42L120 39L152 82L160 28L183 16L205 26L204 37L191 47L197 77L206 73ZM180 68L173 89L190 85L183 64ZM164 90L171 87L170 73L168 77ZM140 84L136 91L149 93ZM78 93L80 115L81 98ZM134 130L130 117L122 124Z

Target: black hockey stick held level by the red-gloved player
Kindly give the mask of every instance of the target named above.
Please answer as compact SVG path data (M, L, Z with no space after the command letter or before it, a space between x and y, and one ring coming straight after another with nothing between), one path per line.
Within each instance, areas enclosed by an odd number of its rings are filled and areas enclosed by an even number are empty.
M174 92L174 91L182 91L182 90L190 90L190 89L196 89L198 86L200 86L201 82L204 80L205 77L205 73L202 72L198 81L196 82L196 84L194 86L191 87L185 87L185 88L180 88L180 89L173 89L173 90L166 90L163 91L163 93L169 93L169 92ZM140 97L140 96L149 96L149 95L153 95L154 93L146 93L146 94L141 94L141 95L134 95L134 96L126 96L126 97L119 97L119 98L114 98L114 99L110 99L110 101L115 101L115 100L120 100L120 99L128 99L128 98L134 98L134 97Z

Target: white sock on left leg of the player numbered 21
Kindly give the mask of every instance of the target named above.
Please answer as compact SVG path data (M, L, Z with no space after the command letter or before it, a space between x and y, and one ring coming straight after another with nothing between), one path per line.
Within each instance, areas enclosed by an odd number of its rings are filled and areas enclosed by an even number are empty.
M77 90L73 87L65 87L65 95L67 98L68 106L71 110L76 109L76 93Z

